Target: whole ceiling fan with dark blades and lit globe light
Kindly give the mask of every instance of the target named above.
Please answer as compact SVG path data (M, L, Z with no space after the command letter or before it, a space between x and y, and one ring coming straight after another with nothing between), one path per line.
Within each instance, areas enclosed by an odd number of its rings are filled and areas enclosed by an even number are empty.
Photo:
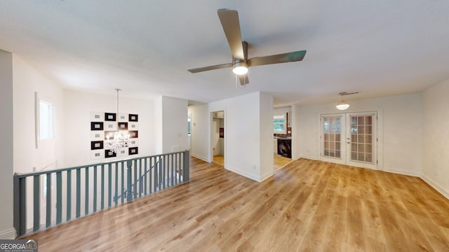
M220 9L217 10L218 18L222 23L223 31L229 43L232 53L232 63L217 64L214 66L204 66L196 69L189 69L191 73L199 73L215 69L232 67L232 71L239 76L240 84L246 85L248 80L248 67L261 66L264 64L277 64L286 62L296 62L304 59L306 50L296 52L286 52L279 55L269 55L263 57L253 57L248 59L248 43L241 40L239 13L237 10Z

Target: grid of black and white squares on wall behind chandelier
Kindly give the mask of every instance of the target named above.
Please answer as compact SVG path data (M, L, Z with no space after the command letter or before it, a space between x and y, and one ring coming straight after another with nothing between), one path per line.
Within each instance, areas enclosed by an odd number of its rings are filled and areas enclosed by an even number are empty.
M91 112L91 160L138 154L138 118L138 114ZM107 148L107 136L117 130L128 131L130 139L128 147L112 153Z

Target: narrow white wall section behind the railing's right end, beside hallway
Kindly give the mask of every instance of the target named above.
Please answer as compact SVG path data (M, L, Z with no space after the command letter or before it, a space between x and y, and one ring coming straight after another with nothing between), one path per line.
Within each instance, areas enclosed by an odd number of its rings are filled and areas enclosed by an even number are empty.
M162 97L162 151L185 151L187 144L187 100Z

